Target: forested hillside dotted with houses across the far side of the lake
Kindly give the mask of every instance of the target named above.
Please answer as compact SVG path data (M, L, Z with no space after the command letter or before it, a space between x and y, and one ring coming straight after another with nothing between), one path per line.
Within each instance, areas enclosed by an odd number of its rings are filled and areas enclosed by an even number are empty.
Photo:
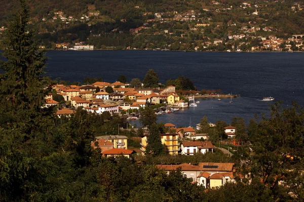
M3 32L17 4L0 2ZM34 0L29 7L30 23L46 48L83 41L97 49L303 50L302 40L290 43L292 34L304 33L303 0Z

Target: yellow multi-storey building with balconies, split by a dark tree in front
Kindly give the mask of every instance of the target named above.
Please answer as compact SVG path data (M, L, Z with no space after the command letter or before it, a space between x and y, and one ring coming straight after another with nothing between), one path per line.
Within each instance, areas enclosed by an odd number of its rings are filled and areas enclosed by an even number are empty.
M148 139L147 139L148 134L144 134L141 136L141 152L142 155L145 154L146 151L146 146L148 144ZM179 143L178 143L178 134L176 133L165 133L165 134L160 134L162 144L165 147L165 151L169 155L178 155L179 151Z

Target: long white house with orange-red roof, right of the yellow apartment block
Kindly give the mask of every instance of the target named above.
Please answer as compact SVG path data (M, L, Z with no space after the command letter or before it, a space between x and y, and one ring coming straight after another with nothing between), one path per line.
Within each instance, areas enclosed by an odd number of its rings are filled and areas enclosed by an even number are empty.
M210 141L184 141L181 143L181 154L182 155L194 155L197 153L205 154L208 151L213 153L213 144Z

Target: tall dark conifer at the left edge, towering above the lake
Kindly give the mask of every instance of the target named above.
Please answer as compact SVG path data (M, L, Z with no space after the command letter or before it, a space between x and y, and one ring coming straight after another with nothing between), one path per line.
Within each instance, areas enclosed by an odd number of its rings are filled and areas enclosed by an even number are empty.
M47 58L33 41L34 31L28 29L28 21L28 6L20 0L20 8L4 33L2 55L7 61L0 61L5 71L0 96L7 111L40 110L47 93L47 80L42 77Z

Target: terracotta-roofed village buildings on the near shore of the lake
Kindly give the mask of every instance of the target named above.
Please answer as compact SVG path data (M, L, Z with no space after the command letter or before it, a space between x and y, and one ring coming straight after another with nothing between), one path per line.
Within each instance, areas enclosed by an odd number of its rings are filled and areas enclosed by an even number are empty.
M115 92L107 93L105 88L108 86L111 86ZM181 99L180 97L182 96L176 94L175 86L167 86L166 88L129 88L128 85L121 82L95 82L92 85L82 86L57 84L53 85L53 90L64 98L65 104L62 105L63 102L59 104L53 100L53 95L49 94L46 97L45 107L61 105L56 112L59 118L63 116L68 118L76 113L75 109L80 108L90 113L102 114L108 112L110 115L120 114L121 117L125 117L127 113L138 114L140 109L146 106L159 106L160 109L162 109L164 104L168 107L173 107L172 109L188 107L188 102ZM71 108L62 108L62 106L68 105ZM137 117L134 118L137 119ZM215 124L209 123L209 126L215 127ZM197 124L196 128L176 128L174 124L166 123L165 127L168 132L160 134L160 137L167 155L189 156L214 153L215 146L211 141L208 141L208 134L197 133L201 129L200 124ZM230 125L224 128L224 132L229 138L233 139L236 129L236 127ZM132 155L146 154L148 136L149 134L141 135L139 149L133 148L131 150L128 147L129 138L124 135L97 136L95 137L96 140L92 140L91 146L99 148L103 157L125 156L132 158ZM232 155L232 153L226 150L224 154L228 154L228 156ZM180 168L181 172L187 178L191 178L193 182L205 188L217 188L227 182L234 182L236 180L234 165L234 163L202 162L198 165L184 163L180 165L158 165L157 167L164 169L168 173ZM243 178L241 175L237 177Z

